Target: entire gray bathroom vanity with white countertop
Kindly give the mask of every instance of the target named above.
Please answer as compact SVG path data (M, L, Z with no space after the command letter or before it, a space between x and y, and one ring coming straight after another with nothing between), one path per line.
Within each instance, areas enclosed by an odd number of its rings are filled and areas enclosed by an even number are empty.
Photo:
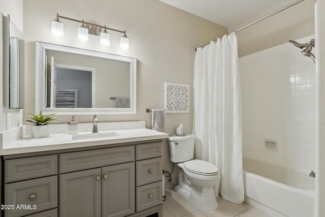
M114 132L91 139L27 137L2 147L4 216L162 216L162 140L168 134ZM35 148L32 140L45 145Z

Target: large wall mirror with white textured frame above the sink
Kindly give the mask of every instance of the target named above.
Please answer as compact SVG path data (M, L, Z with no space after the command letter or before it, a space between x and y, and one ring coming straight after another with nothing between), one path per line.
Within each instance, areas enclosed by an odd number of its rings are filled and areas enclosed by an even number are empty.
M136 61L36 41L36 112L135 114Z

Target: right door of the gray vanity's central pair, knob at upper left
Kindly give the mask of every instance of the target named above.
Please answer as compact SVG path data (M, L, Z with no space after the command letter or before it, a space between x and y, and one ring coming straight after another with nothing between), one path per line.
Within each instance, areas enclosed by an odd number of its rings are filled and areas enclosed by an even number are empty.
M135 213L135 163L103 167L102 176L102 216Z

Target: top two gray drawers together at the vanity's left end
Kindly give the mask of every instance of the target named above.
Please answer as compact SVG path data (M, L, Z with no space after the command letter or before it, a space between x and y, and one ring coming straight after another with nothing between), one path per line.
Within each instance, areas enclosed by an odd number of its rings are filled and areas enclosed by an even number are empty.
M57 207L57 154L5 160L4 171L5 217Z

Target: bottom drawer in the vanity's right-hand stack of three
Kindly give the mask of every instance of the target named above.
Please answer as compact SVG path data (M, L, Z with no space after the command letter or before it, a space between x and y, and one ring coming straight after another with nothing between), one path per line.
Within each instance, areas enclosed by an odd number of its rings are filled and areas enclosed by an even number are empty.
M137 212L163 203L163 181L137 188Z

